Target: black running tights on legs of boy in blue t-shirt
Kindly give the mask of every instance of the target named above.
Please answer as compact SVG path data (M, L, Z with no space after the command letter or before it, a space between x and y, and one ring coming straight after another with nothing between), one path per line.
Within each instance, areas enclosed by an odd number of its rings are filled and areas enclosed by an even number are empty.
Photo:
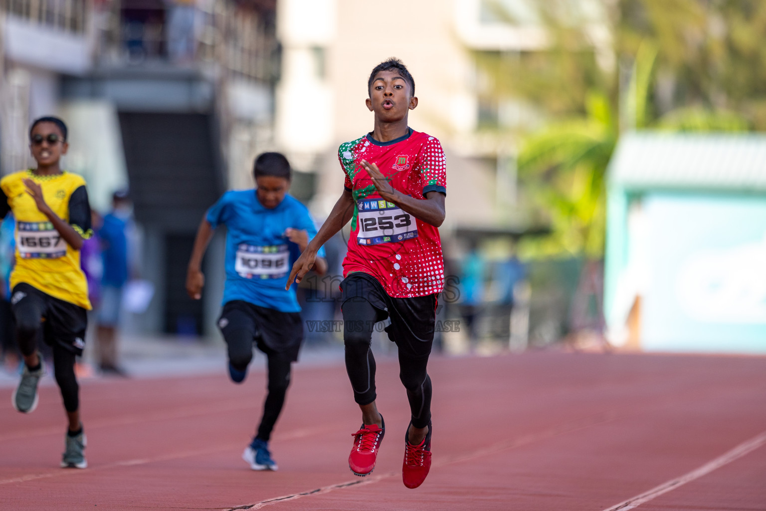
M229 361L234 369L244 371L250 360L253 359L253 333L249 329L237 329L228 332L225 336L228 344ZM285 403L287 387L290 386L290 369L292 360L290 355L278 352L269 352L267 356L268 383L267 395L264 400L264 414L260 418L257 437L269 441L271 431L277 419L280 417Z

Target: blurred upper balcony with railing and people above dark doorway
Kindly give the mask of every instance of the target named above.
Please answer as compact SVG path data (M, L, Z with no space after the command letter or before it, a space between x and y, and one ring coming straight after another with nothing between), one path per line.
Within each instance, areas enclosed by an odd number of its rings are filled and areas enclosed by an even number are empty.
M98 67L175 67L265 83L277 77L273 8L267 5L122 0L96 16Z

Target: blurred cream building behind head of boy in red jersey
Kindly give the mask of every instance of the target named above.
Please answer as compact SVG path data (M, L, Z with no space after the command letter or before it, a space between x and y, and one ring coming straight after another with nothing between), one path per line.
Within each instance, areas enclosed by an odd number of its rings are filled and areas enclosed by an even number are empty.
M409 2L398 15L372 2L280 0L283 45L277 87L277 145L299 169L314 172L313 210L329 213L342 189L339 143L372 128L367 80L388 57L415 80L414 129L437 136L449 160L450 215L455 228L516 228L512 141L480 133L485 105L473 52L539 47L539 28L510 28L483 16L480 0ZM395 19L394 19L395 18Z

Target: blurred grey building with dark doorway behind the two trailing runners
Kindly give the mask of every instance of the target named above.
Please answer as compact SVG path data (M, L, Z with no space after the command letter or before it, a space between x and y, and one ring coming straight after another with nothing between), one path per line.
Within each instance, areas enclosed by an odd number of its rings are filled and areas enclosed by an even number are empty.
M128 185L155 285L139 330L214 328L223 246L208 254L205 303L185 296L195 230L226 188L251 186L273 145L275 0L4 0L2 172L30 165L34 117L70 126L64 165L93 206Z

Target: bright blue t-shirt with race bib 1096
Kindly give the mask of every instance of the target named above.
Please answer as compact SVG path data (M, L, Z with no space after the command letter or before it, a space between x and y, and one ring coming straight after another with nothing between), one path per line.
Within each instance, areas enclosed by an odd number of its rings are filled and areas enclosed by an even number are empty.
M300 312L296 287L285 290L298 245L284 235L287 228L305 230L309 241L316 227L309 210L285 195L273 209L260 204L254 190L226 192L206 216L213 228L226 225L226 285L223 303L244 300L283 313ZM320 248L318 257L325 257Z

